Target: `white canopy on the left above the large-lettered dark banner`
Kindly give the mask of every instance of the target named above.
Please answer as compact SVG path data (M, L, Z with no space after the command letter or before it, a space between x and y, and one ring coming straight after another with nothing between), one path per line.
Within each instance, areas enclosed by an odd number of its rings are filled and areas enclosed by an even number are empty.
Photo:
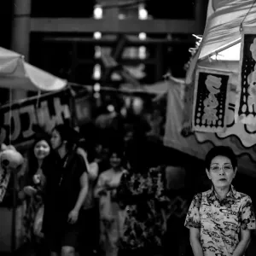
M0 87L49 91L66 85L66 80L26 63L23 55L0 47Z

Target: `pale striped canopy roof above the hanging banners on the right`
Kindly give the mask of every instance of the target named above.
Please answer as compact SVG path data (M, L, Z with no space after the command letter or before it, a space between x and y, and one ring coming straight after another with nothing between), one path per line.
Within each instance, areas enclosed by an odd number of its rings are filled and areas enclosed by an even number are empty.
M215 9L207 18L199 59L240 43L241 23L242 26L256 26L254 0L210 0L209 7L212 3Z

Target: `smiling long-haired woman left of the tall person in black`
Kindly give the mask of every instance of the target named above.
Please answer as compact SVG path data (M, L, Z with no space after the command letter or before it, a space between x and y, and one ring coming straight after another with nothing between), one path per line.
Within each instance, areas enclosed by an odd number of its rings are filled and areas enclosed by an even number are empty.
M26 172L23 177L25 186L19 193L20 199L26 200L26 214L23 219L25 239L34 247L37 255L44 252L43 247L40 247L44 227L37 225L35 220L38 212L44 211L46 176L47 172L54 170L54 161L49 136L44 133L37 134L26 160Z

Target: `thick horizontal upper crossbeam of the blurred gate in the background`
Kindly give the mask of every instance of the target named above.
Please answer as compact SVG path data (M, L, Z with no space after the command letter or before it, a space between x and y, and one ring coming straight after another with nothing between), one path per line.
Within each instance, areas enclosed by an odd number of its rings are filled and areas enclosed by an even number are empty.
M31 32L197 33L195 20L32 18Z

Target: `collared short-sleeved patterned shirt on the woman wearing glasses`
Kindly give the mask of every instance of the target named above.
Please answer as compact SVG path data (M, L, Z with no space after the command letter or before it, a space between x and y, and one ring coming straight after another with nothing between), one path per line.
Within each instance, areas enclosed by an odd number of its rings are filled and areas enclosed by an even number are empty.
M255 230L252 200L231 186L223 201L214 189L195 195L185 226L200 229L204 256L230 256L239 243L240 230Z

